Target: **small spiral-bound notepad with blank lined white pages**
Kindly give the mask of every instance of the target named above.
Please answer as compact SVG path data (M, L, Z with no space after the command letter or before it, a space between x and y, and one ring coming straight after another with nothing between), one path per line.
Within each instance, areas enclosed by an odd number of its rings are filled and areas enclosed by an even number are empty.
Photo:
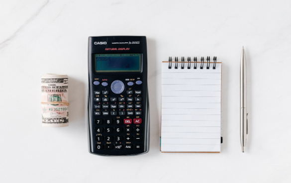
M219 153L221 62L162 63L161 152Z

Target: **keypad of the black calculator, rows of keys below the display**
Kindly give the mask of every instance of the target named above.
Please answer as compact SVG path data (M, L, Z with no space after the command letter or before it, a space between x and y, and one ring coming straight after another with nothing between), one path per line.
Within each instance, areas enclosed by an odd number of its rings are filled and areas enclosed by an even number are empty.
M143 152L146 137L142 120L145 105L142 103L142 85L126 85L123 92L116 93L112 92L111 83L98 85L94 90L95 150ZM139 87L139 90L130 87Z

